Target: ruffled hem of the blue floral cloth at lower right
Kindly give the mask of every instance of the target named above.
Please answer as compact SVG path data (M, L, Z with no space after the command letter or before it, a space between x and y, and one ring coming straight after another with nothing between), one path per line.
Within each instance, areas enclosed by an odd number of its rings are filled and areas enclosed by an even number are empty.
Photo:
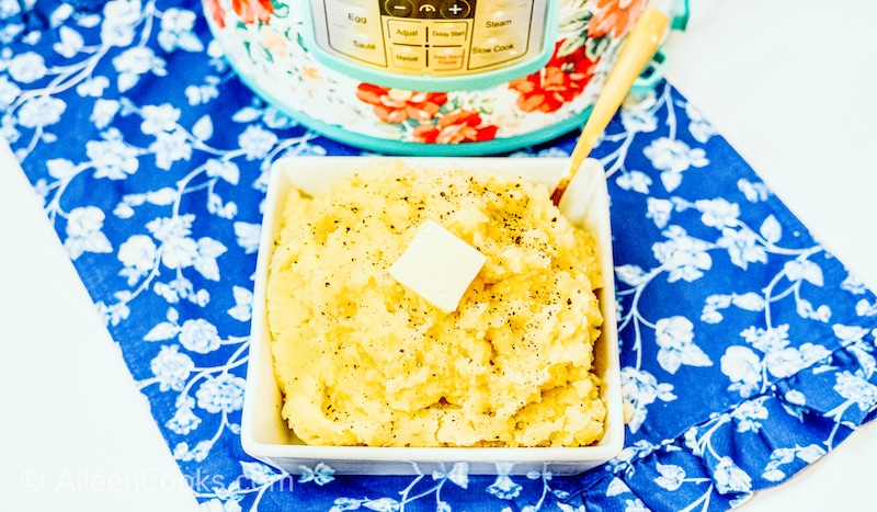
M562 501L591 512L674 512L681 502L688 503L684 510L728 510L790 479L877 417L875 343L865 341L876 335L877 321L870 323L842 328L841 346L830 356L714 412L683 434L625 446L616 458L583 475L580 489ZM827 388L839 400L806 400L824 396ZM749 475L738 462L761 467L762 474ZM673 499L663 501L651 492L654 485Z

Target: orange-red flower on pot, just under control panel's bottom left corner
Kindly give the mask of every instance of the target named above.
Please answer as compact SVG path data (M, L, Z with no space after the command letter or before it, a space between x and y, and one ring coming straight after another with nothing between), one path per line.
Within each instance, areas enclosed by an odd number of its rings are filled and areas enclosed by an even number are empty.
M412 92L360 83L356 98L374 105L375 115L384 123L405 123L408 120L430 121L447 102L444 92Z

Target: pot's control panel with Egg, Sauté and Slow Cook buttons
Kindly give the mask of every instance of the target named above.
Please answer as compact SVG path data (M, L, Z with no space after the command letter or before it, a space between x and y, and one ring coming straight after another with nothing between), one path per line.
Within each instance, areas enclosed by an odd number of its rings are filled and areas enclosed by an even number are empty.
M309 0L318 59L356 75L466 77L540 67L554 0ZM338 67L338 66L337 66ZM526 71L526 72L525 72Z

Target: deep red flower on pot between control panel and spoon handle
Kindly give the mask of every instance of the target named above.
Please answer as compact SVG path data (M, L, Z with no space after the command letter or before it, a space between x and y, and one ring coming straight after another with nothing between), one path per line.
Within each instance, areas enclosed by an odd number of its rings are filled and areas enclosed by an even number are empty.
M519 92L517 107L524 112L556 112L581 94L593 77L592 62L579 47L576 52L558 57L557 50L545 67L527 77L509 82L509 88Z

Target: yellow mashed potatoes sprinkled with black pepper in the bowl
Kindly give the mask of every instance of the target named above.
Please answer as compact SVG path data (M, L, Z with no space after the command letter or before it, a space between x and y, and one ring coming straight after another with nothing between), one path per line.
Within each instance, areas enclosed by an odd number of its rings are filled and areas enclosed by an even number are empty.
M267 320L283 417L304 442L600 440L597 251L547 187L398 163L342 180L327 196L293 192L284 218ZM425 219L487 257L451 314L387 272Z

